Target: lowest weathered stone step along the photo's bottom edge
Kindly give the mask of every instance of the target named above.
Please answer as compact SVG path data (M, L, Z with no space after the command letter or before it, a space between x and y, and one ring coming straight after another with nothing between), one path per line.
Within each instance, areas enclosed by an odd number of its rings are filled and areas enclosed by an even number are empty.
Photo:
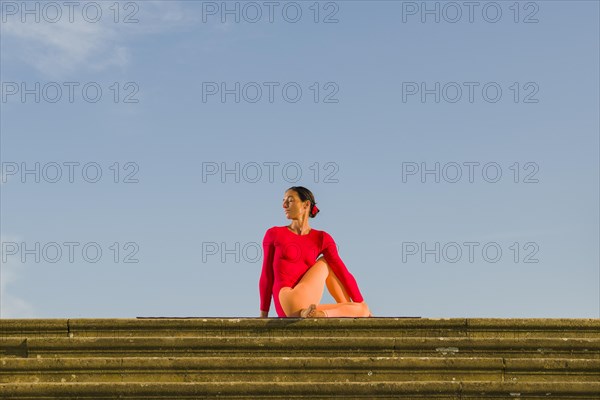
M585 399L600 383L555 382L221 382L0 384L4 399Z

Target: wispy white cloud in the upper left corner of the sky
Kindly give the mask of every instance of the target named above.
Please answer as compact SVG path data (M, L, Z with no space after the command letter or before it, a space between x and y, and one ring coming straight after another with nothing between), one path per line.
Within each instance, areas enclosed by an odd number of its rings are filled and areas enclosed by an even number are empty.
M11 65L21 61L44 78L68 80L75 72L125 70L133 62L131 48L137 45L135 40L143 36L198 27L217 32L232 29L230 23L202 23L200 8L192 3L121 2L117 23L114 21L114 2L101 3L102 17L96 23L86 21L78 8L75 8L73 22L69 21L67 7L63 10L63 18L53 23L44 18L35 22L32 17L23 23L17 13L1 24L3 62ZM125 19L130 23L125 23Z

